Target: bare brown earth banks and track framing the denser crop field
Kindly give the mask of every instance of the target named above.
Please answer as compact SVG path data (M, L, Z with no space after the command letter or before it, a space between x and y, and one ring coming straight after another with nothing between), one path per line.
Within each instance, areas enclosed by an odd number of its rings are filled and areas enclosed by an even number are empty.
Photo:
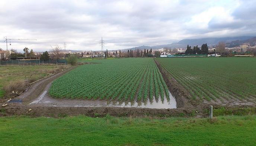
M58 74L54 74L45 79L39 80L28 87L28 91L17 97L22 99L23 103L8 103L6 107L1 107L0 116L11 115L28 115L31 117L47 116L47 117L64 117L68 115L87 115L92 117L102 117L106 114L112 116L157 116L157 117L169 117L169 116L208 116L207 109L209 105L214 107L221 107L218 104L204 103L200 100L192 100L189 93L181 86L170 74L162 69L160 64L155 60L157 67L159 68L170 92L176 98L177 109L150 109L150 108L138 108L138 107L63 107L63 106L47 106L29 104L44 92L47 85L67 73L71 69L67 69ZM76 66L77 67L77 66ZM0 103L1 105L3 103ZM31 111L29 111L31 109Z

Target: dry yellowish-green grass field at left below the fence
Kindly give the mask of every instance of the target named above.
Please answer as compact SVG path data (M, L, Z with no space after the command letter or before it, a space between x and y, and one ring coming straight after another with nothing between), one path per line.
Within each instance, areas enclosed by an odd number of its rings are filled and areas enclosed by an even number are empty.
M41 66L0 66L0 98L5 94L3 86L11 82L30 80L31 82L47 76L47 73L54 73L66 66L41 65Z

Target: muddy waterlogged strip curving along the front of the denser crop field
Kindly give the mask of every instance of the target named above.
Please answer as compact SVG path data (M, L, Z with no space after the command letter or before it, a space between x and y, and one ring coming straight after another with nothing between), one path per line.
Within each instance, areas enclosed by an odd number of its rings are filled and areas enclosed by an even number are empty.
M38 106L53 106L53 107L140 107L151 109L175 109L175 97L169 93L170 100L156 101L155 98L152 102L119 102L107 100L88 100L88 99L55 99L49 96L48 91L45 90L37 99L29 103L30 105Z

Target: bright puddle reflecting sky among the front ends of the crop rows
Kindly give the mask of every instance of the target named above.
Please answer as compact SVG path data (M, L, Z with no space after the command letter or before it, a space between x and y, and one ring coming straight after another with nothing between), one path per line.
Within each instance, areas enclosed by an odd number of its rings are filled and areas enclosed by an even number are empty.
M170 100L167 101L166 98L164 98L164 101L158 100L156 101L155 97L153 98L153 101L150 102L148 99L146 102L115 102L115 101L108 101L106 102L105 106L108 107L141 107L141 108L150 108L150 109L176 109L176 100L175 97L172 96L172 94L169 92ZM160 97L159 97L160 99ZM102 105L98 105L102 106Z

